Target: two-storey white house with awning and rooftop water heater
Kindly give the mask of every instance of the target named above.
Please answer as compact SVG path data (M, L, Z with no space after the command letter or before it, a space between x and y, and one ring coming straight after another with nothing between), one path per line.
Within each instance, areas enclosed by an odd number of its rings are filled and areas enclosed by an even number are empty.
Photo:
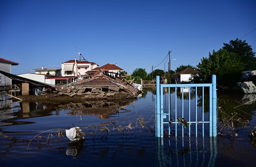
M68 60L62 63L62 76L83 76L87 71L90 71L98 67L95 62L79 61L76 58L74 60Z

